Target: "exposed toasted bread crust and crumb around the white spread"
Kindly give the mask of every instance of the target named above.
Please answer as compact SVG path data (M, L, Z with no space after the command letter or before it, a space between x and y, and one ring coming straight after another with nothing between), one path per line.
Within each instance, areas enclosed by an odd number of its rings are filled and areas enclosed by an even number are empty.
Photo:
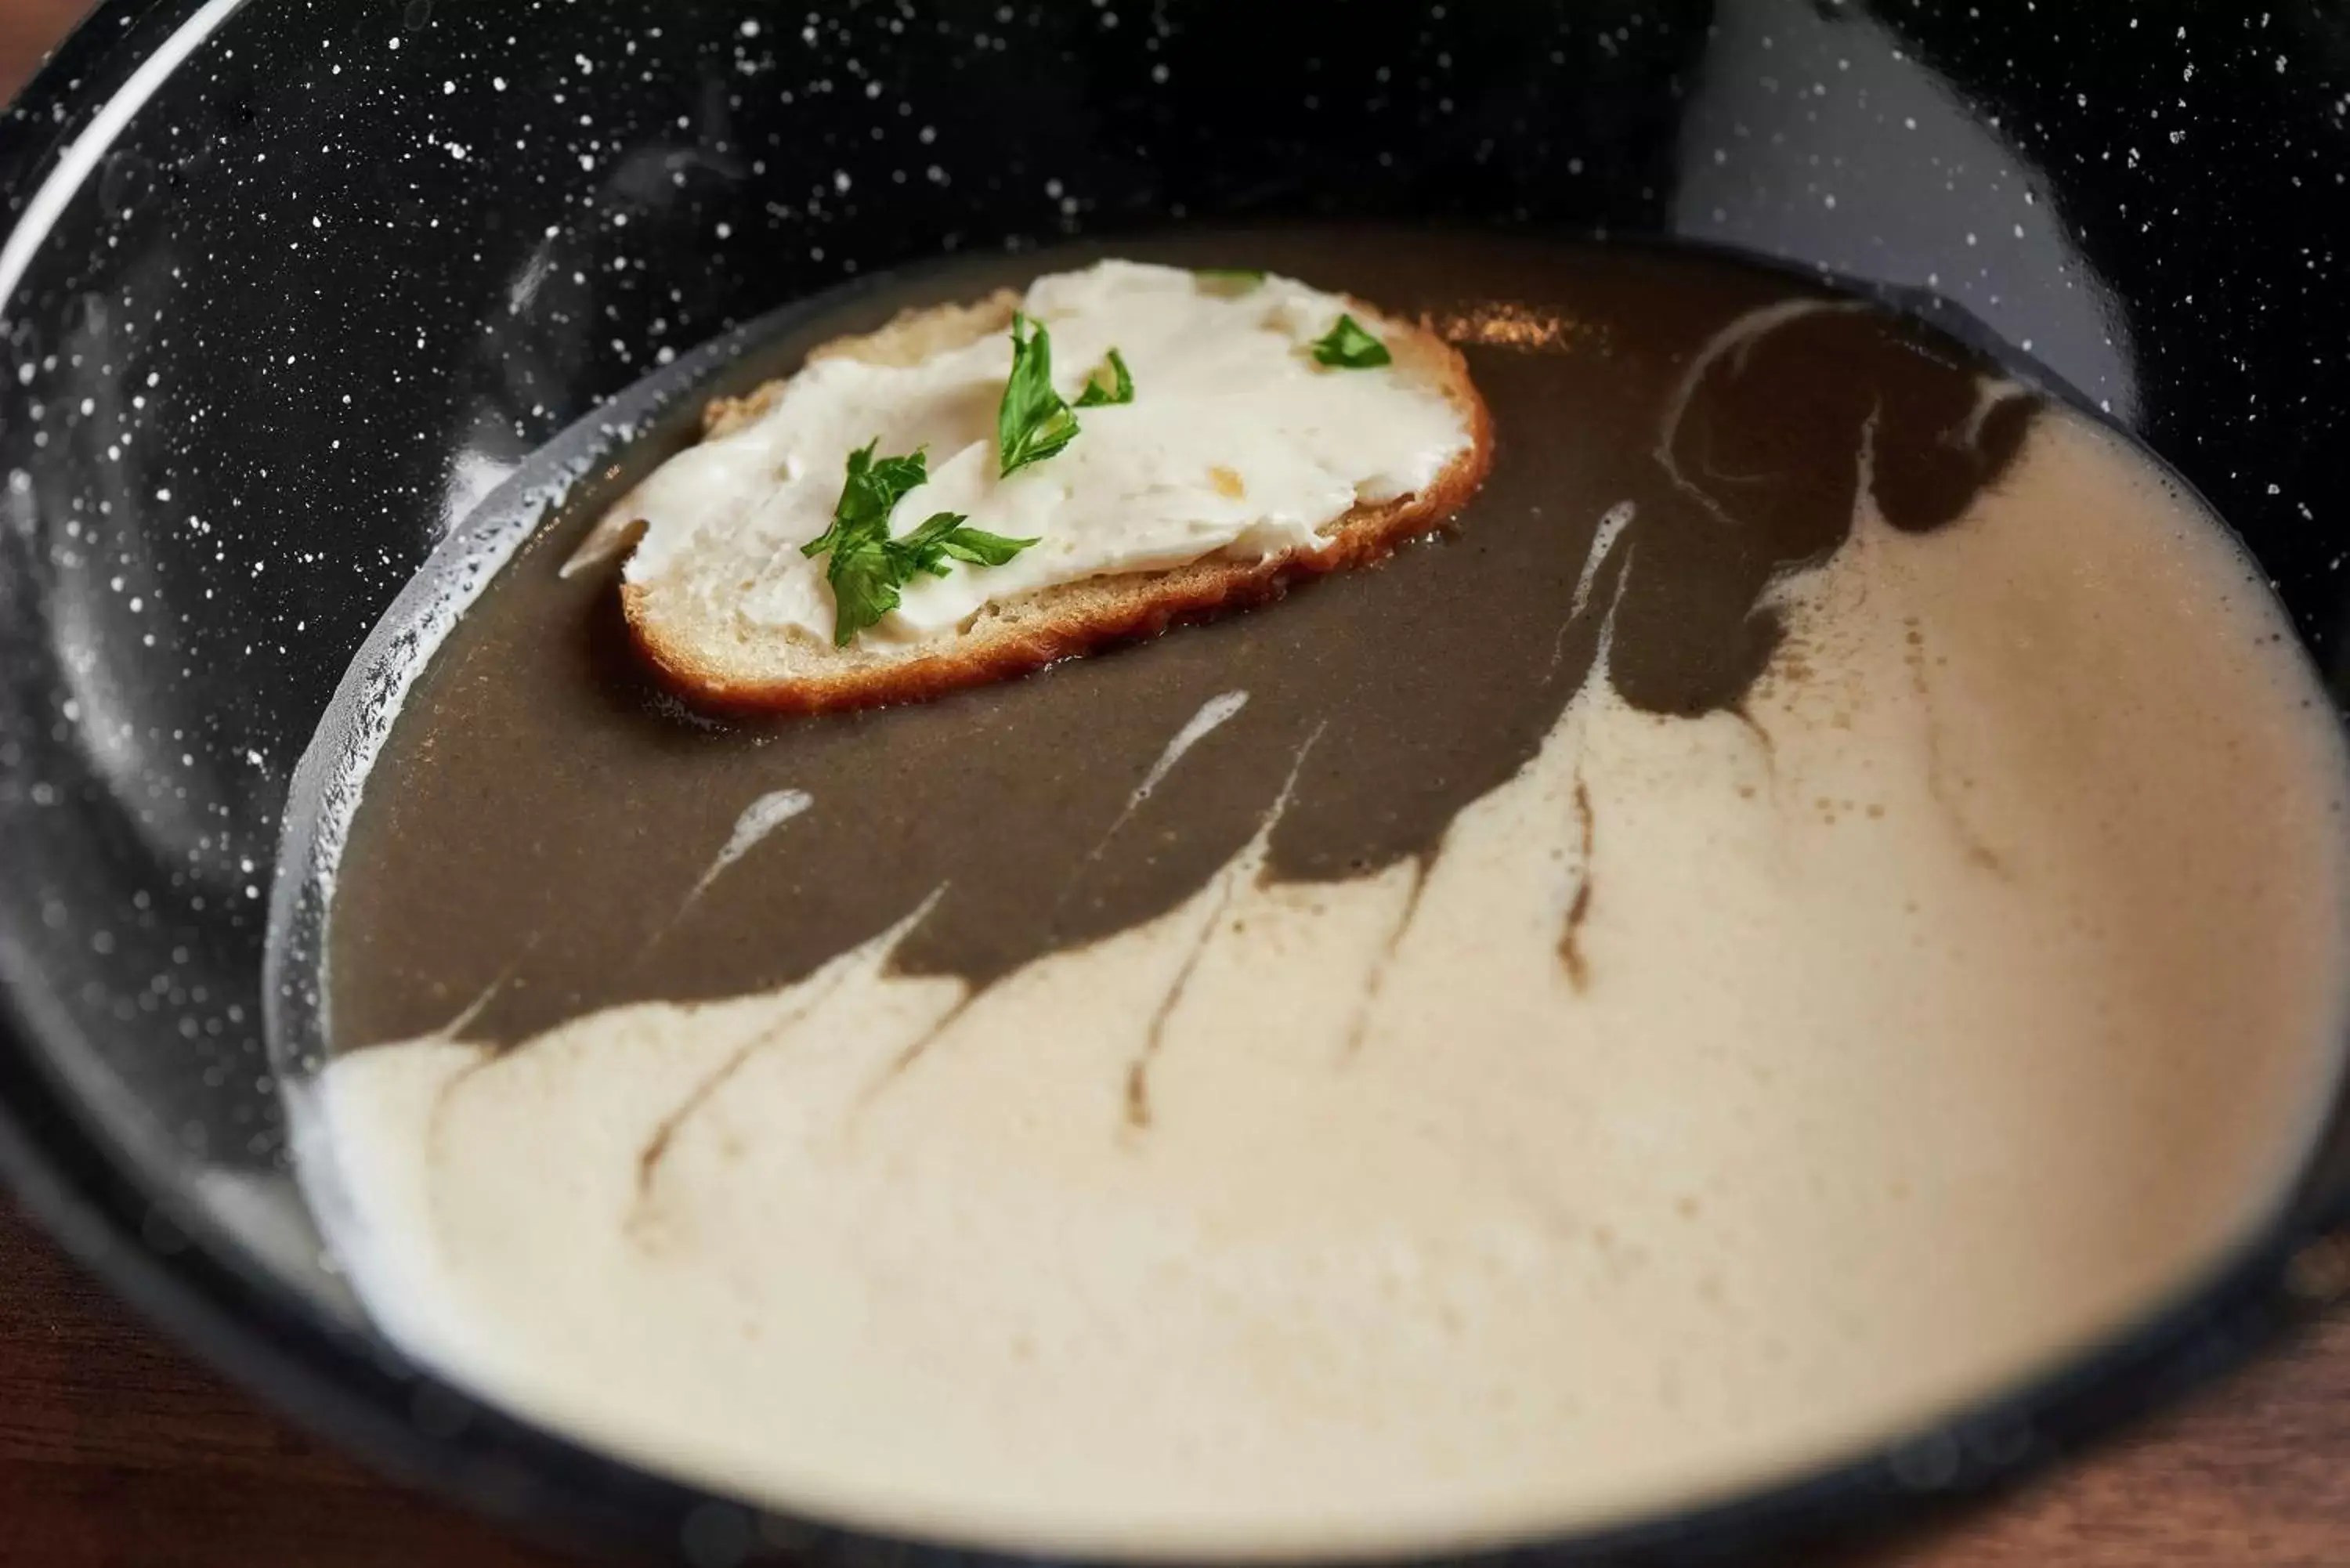
M999 292L971 306L909 310L879 331L815 348L808 360L853 357L870 364L919 364L1010 327L1020 296ZM660 679L698 708L721 712L832 712L914 703L961 686L1025 675L1104 644L1152 637L1168 625L1246 609L1278 597L1288 583L1377 562L1415 534L1443 527L1492 465L1492 416L1469 381L1462 355L1424 327L1347 301L1375 331L1401 374L1438 390L1459 409L1469 444L1417 494L1356 505L1321 529L1318 548L1262 559L1206 557L1166 571L1130 571L1039 588L989 602L964 628L921 642L858 639L832 646L813 637L747 628L693 595L670 574L620 588L627 628ZM717 397L703 411L703 437L761 418L785 381L745 397ZM630 527L627 498L604 529Z

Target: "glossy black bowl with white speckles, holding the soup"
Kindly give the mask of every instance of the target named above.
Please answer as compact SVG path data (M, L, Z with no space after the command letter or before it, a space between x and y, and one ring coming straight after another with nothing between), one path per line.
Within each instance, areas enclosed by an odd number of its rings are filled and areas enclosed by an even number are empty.
M1972 310L2202 487L2338 670L2345 115L2324 0L115 0L0 118L0 1164L400 1474L698 1566L895 1552L482 1410L320 1267L261 1030L280 811L482 496L672 350L945 249L1271 214L1687 235ZM2336 1110L2272 1229L2056 1380L1528 1552L1720 1561L2061 1455L2350 1281L2345 1161Z

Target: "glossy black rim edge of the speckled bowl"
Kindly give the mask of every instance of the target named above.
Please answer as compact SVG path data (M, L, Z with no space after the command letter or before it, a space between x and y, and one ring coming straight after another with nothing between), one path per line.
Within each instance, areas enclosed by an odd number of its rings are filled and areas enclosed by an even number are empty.
M193 52L242 5L101 0L82 19L0 113L0 190L33 193L0 214L0 252L33 254L19 247L26 219L85 134L103 129L96 122L106 106L143 101L134 78L146 73L148 89L160 85L176 59L160 73L155 66L174 45L188 42L181 56ZM113 132L132 113L136 101ZM96 150L103 153L103 143ZM78 183L61 195L73 190ZM33 249L45 237L35 235ZM7 303L0 296L0 320L7 320ZM580 423L595 418L590 411ZM21 976L0 969L0 1185L150 1326L381 1474L524 1535L604 1556L627 1552L724 1563L750 1561L766 1549L808 1556L881 1549L971 1568L1025 1568L1036 1561L1015 1549L973 1549L792 1516L672 1481L482 1403L374 1328L329 1321L226 1232L141 1175L139 1161L94 1121L38 1044L42 1030L28 1006L31 994ZM2336 1105L2334 1114L2338 1119L2343 1107ZM1753 1488L1638 1512L1589 1530L1471 1544L1438 1556L1342 1554L1311 1561L1668 1566L1718 1563L1732 1547L1777 1561L1784 1552L1918 1523L1960 1500L2009 1488L2211 1382L2315 1319L2341 1293L2343 1269L2310 1262L2317 1248L2334 1255L2350 1248L2350 1190L2310 1192L2312 1166L2315 1154L2303 1166L2303 1187L2280 1213L2188 1286L2122 1328L2059 1354L2052 1366L1892 1441ZM1182 1559L1121 1554L1100 1561Z

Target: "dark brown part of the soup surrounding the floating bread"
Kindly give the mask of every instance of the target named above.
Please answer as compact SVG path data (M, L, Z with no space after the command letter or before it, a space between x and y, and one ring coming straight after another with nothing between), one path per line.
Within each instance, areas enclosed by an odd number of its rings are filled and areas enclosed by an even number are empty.
M968 259L848 292L728 386L900 308L1100 254ZM1925 531L1998 482L2037 411L1986 404L1998 367L1915 320L1716 254L1396 228L1116 254L1264 266L1429 320L1495 414L1483 494L1450 531L1276 607L916 708L721 724L637 668L613 567L557 571L599 508L689 440L682 407L578 489L416 682L341 863L336 1041L423 1034L484 994L468 1032L512 1041L616 1001L778 985L940 884L898 964L985 983L1196 891L1314 726L1274 875L1426 856L1589 672L1598 618L1570 623L1570 604L1610 508L1633 505L1631 548L1586 588L1614 604L1617 691L1659 715L1737 710L1781 637L1762 590L1842 543L1864 449L1882 515ZM1781 303L1788 320L1699 360ZM1203 743L1213 769L1102 846L1168 736L1231 689L1250 703ZM773 790L808 792L806 820L759 849L757 877L689 900Z

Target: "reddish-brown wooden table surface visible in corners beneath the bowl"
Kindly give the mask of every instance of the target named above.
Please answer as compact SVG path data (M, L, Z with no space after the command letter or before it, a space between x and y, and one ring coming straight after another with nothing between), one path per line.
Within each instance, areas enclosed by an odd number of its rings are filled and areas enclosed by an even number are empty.
M0 0L0 99L80 0ZM552 1568L134 1321L0 1197L0 1566ZM2350 1321L1927 1540L1821 1568L2341 1568Z

